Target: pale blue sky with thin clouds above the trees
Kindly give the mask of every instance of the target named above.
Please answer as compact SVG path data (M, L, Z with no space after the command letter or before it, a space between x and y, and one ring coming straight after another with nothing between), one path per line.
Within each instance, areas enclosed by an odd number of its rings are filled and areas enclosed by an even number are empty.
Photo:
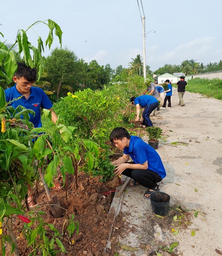
M141 15L141 0L138 0ZM222 60L222 0L142 0L146 17L146 64L152 71L164 64L194 59L207 64ZM4 11L3 11L4 10ZM0 32L15 42L18 29L37 20L54 20L63 31L63 47L86 62L97 60L112 68L128 67L131 58L143 56L142 23L137 0L22 0L1 3ZM34 27L42 39L48 31ZM34 31L28 39L36 45ZM85 42L87 40L87 42ZM55 40L51 50L59 46ZM44 55L49 55L46 50Z

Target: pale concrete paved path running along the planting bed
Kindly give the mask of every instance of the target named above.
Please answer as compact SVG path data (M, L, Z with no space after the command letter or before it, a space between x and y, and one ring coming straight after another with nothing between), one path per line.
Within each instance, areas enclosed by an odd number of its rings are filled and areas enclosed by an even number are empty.
M123 216L118 232L122 229L125 236L119 236L114 225L111 241L115 237L122 245L137 247L136 256L149 255L157 249L157 243L170 245L174 241L179 242L177 255L218 256L215 249L222 252L222 101L186 92L186 106L181 107L176 88L173 94L172 108L160 110L156 117L151 117L154 125L163 129L157 152L167 177L161 182L160 190L171 196L170 206L199 210L206 220L200 218L201 214L192 217L192 225L179 228L174 236L173 225L168 223L170 229L166 229L164 224L155 222L150 200L143 198L146 188L128 186L120 201L114 198L111 206L116 214ZM179 143L172 145L172 142ZM183 146L185 143L187 146ZM191 235L193 230L195 236ZM132 253L121 249L118 255Z

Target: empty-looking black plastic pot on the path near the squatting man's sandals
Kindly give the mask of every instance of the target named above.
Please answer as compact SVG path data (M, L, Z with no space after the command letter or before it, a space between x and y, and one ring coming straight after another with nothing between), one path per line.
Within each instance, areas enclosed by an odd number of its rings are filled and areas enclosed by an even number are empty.
M158 215L166 215L169 212L170 196L163 192L153 192L150 194L152 211Z

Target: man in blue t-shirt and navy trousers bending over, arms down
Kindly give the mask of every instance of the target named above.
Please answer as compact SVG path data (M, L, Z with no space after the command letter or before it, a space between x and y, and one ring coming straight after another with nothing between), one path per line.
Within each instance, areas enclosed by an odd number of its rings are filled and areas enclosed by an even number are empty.
M136 105L136 110L137 110L137 117L135 121L139 121L139 113L140 113L140 107L142 108L142 117L140 121L143 119L143 123L141 126L144 128L153 126L152 121L150 120L150 114L155 108L157 108L159 102L155 97L152 97L150 95L141 95L139 97L132 97L130 99L132 104Z

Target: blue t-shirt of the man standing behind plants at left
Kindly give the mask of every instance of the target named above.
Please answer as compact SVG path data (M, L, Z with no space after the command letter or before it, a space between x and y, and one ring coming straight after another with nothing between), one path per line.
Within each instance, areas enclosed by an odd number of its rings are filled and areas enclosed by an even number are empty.
M50 102L50 99L44 93L44 90L37 87L31 87L30 88L30 96L28 99L23 96L21 99L14 100L9 104L9 106L13 106L13 108L17 108L17 106L21 105L24 106L26 109L31 109L35 111L35 117L32 114L29 114L30 119L29 121L33 123L34 127L42 127L41 125L41 113L40 113L40 107L42 108L52 108L52 102ZM10 102L11 100L21 97L22 94L17 90L16 84L15 86L6 89L5 91L5 98L6 102ZM22 118L22 117L21 117Z

